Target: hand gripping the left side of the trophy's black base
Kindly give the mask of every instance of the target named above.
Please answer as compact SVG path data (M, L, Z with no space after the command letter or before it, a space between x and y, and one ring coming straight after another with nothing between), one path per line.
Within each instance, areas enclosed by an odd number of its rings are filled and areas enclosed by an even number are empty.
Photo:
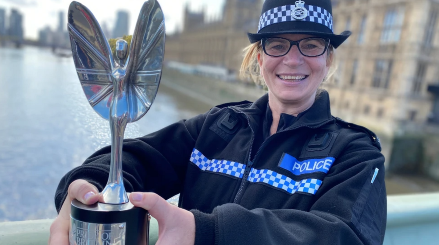
M67 197L62 204L58 217L50 225L49 245L68 245L68 228L70 225L70 205L73 199L90 205L99 200L96 186L83 179L73 181L68 186Z

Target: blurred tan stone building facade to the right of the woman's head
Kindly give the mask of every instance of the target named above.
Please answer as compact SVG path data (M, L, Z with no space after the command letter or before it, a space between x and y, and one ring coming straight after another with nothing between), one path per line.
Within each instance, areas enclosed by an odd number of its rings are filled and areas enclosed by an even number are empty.
M400 135L439 125L439 1L333 0L338 71L324 84L336 115Z

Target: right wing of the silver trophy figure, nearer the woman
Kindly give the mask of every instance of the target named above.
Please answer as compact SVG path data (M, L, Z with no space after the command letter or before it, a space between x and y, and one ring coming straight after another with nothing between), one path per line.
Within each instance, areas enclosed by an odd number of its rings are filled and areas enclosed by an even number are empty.
M146 1L140 10L131 39L127 69L130 72L129 122L148 112L157 94L165 51L165 17L156 0Z

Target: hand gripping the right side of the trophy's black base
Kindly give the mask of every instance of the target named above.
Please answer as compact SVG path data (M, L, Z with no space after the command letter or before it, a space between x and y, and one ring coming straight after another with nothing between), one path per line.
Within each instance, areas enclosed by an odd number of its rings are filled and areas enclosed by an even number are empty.
M156 245L194 245L194 214L166 202L155 193L131 193L130 201L134 206L148 210L158 221Z

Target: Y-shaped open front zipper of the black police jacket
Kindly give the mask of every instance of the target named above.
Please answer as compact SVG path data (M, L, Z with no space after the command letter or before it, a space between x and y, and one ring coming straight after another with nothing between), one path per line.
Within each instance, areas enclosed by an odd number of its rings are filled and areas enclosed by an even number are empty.
M327 120L326 122L324 122L324 123L320 123L320 124L317 125L317 126L299 125L299 126L296 126L296 127L294 127L294 128L291 128L291 129L287 129L287 130L283 130L283 131L281 131L281 132L274 133L273 135L270 135L269 137L267 137L267 138L262 142L261 146L259 147L258 151L257 151L256 154L255 154L255 157L253 158L253 161L251 161L252 147L253 147L253 142L254 142L254 140L255 140L255 131L253 130L252 125L250 125L250 119L248 118L247 114L245 114L245 112L238 112L237 110L235 110L235 109L233 109L233 108L231 108L231 107L229 107L229 108L232 109L232 110L233 110L234 112L236 112L236 113L244 114L245 117L247 118L247 123L248 123L248 126L250 127L250 130L252 130L252 143L250 144L250 150L249 150L249 153L248 153L248 164L245 166L245 172L244 172L244 175L242 176L242 179L241 179L241 185L239 186L239 189L238 189L238 191L237 191L237 193L236 193L236 196L235 196L235 199L234 199L233 203L237 203L237 202L238 202L238 199L239 199L239 197L241 196L242 190L244 189L245 182L247 181L248 175L250 174L250 169L252 168L252 165L253 165L253 163L255 162L256 157L258 157L259 152L262 150L264 144L266 143L266 141L267 141L268 139L270 139L271 137L273 137L273 136L274 136L275 134L277 134L277 133L283 133L283 132L287 132L287 131L291 131L291 130L296 130L296 129L301 128L301 127L307 127L307 128L310 128L310 129L317 129L317 128L320 128L321 126L324 126L324 125L326 125L326 124L331 123L331 122L334 121L334 119L331 118L331 119L328 119L328 120Z

